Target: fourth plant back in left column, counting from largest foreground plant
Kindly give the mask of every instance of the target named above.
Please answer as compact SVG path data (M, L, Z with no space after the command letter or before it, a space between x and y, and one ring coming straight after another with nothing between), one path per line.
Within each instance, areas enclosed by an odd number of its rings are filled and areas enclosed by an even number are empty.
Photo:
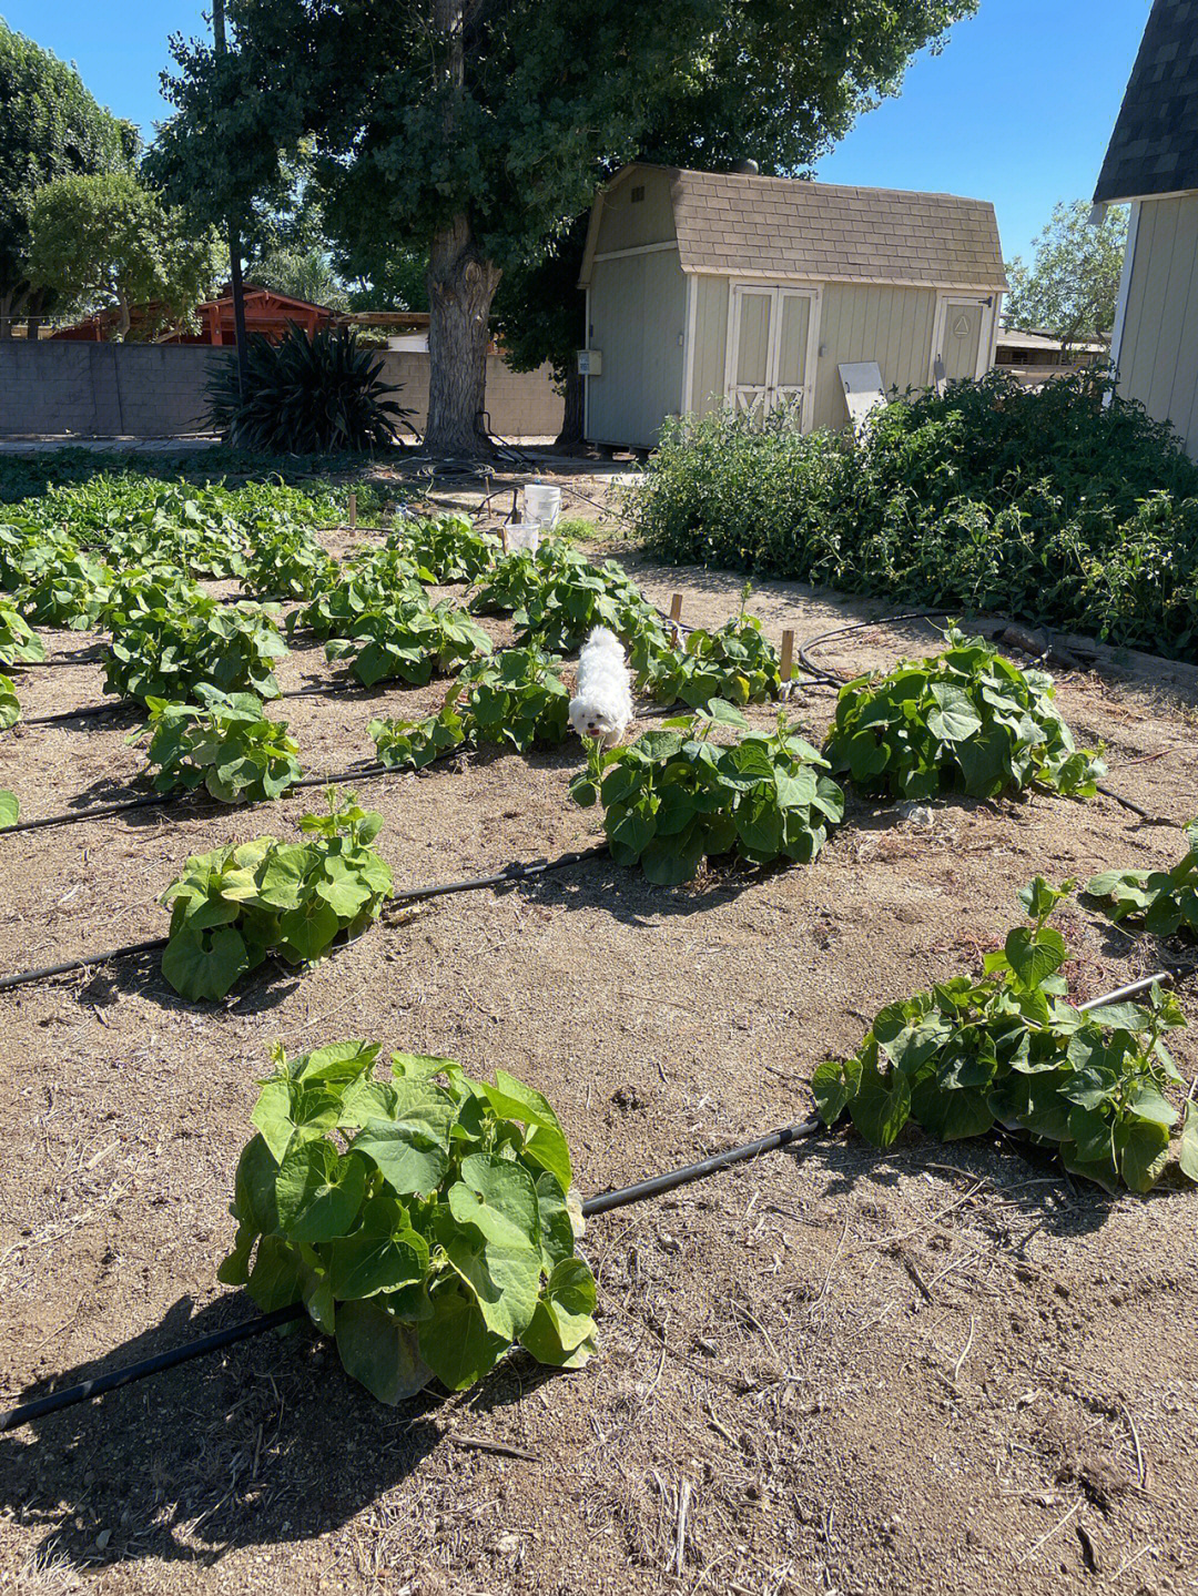
M276 611L201 595L187 610L131 618L105 654L104 688L121 697L183 702L206 681L222 693L278 697L273 666L286 653Z

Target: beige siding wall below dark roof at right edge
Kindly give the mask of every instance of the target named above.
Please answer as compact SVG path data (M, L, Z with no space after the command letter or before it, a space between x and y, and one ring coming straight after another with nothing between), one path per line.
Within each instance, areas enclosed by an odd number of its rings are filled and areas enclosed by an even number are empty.
M1198 460L1198 195L1141 201L1118 364L1120 393Z

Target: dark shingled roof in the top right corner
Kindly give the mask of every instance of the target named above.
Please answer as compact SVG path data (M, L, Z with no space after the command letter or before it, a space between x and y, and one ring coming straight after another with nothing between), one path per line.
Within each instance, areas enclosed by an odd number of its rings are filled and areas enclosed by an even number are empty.
M1198 0L1155 0L1094 200L1198 188Z

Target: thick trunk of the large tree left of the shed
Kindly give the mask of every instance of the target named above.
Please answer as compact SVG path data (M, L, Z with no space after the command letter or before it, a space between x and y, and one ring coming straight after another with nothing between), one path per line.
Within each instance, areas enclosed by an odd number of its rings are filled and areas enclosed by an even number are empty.
M429 421L437 455L490 453L483 426L487 338L499 268L483 260L469 217L458 215L429 252Z

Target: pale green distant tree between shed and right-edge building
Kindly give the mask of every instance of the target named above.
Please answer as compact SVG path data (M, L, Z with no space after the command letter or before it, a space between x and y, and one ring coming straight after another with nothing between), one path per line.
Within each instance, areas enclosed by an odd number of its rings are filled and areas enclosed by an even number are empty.
M1098 225L1085 200L1053 206L1032 239L1032 265L1016 255L1007 267L1008 326L1050 332L1066 350L1109 338L1126 243L1125 206L1112 206Z

